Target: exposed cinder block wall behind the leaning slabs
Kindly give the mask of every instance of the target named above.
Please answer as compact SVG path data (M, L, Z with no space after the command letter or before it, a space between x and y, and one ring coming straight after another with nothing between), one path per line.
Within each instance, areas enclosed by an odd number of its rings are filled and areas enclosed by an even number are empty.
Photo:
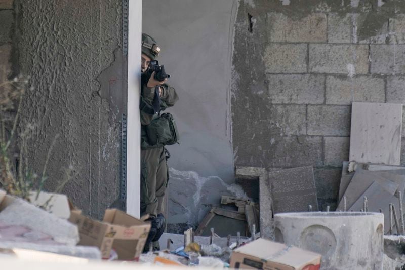
M320 209L334 208L351 103L405 103L404 10L403 1L240 1L235 164L313 165Z

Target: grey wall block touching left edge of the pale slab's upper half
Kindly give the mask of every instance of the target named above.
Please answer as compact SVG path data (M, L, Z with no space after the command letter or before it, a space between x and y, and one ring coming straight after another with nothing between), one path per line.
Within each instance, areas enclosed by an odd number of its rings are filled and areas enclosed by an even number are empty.
M308 135L349 136L350 106L308 105Z

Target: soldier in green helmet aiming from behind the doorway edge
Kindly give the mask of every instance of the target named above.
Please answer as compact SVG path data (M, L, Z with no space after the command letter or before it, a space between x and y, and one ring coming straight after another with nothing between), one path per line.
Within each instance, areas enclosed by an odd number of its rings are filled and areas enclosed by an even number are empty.
M165 143L151 143L148 137L148 126L160 117L160 110L172 107L178 100L176 90L169 86L165 79L157 81L153 72L150 78L148 71L151 60L156 60L160 48L156 41L149 35L142 33L142 58L141 58L141 216L149 214L147 221L151 222L144 251L149 248L150 241L154 249L159 249L158 240L166 227L163 216L164 195L169 179L167 166L168 156ZM159 108L156 111L156 106ZM156 123L156 122L155 122ZM158 132L158 131L157 131ZM150 133L150 132L149 132Z

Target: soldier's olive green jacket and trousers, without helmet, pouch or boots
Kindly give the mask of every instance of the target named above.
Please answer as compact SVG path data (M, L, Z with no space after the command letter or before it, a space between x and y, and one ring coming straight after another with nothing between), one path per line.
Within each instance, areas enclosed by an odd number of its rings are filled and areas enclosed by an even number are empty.
M176 90L168 84L163 84L161 88L160 107L166 109L173 106L178 100ZM153 97L154 88L150 89L143 85L141 103L151 107ZM149 144L146 128L158 115L147 111L141 109L141 215L149 214L156 217L163 212L163 197L169 172L164 146Z

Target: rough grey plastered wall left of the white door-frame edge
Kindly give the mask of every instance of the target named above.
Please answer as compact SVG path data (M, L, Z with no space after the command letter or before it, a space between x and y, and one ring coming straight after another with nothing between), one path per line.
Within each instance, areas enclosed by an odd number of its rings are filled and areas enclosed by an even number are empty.
M30 75L21 128L30 129L29 163L40 173L55 140L46 189L63 189L85 214L120 207L120 119L126 110L121 1L17 1L21 74ZM59 136L59 137L58 137Z

